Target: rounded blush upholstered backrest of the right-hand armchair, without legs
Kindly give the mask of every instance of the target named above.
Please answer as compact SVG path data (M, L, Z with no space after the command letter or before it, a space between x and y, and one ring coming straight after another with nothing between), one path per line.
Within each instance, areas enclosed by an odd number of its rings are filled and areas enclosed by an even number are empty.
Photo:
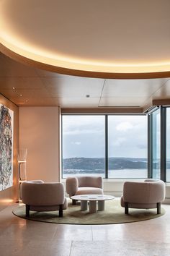
M125 182L123 200L133 203L156 203L165 198L165 184L161 180L146 182Z

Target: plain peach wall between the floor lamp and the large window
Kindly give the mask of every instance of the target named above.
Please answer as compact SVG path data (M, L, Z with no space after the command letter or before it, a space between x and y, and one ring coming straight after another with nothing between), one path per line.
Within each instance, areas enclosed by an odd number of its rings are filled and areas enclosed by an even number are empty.
M27 148L27 179L60 180L60 108L19 107L19 148Z

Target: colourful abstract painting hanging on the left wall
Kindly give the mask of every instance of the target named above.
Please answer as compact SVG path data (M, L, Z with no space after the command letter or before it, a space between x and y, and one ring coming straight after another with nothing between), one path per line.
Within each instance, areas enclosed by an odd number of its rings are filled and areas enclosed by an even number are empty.
M13 185L14 112L0 104L0 190Z

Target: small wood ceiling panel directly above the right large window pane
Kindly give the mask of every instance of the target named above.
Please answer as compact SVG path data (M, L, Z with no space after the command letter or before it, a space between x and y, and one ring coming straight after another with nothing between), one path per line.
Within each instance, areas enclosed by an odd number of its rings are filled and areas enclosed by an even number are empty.
M140 107L147 101L145 97L110 97L101 98L99 106L106 107Z

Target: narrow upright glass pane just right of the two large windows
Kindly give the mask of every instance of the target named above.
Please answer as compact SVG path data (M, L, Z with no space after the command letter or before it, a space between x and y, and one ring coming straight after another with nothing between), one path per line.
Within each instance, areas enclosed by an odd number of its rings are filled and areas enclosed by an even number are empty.
M153 112L153 179L160 179L160 110Z

